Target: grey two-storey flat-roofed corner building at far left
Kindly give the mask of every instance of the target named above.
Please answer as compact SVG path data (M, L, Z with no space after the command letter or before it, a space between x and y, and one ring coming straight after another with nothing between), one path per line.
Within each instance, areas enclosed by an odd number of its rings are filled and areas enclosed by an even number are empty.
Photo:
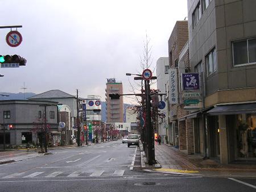
M39 144L40 132L48 132L49 142L59 145L57 103L38 100L0 101L0 146L3 147L3 127L6 145Z

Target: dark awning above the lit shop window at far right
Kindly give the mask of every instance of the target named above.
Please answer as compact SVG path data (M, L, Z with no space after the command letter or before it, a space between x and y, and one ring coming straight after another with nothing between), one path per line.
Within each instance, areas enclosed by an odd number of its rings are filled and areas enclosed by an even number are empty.
M256 103L220 105L207 112L209 115L232 115L256 113Z

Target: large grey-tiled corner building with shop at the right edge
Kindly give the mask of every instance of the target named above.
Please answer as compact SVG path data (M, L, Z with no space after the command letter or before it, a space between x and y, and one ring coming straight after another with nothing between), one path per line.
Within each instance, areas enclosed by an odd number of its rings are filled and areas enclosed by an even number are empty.
M188 0L189 63L203 76L195 152L222 164L256 158L256 1ZM195 132L197 130L197 132Z

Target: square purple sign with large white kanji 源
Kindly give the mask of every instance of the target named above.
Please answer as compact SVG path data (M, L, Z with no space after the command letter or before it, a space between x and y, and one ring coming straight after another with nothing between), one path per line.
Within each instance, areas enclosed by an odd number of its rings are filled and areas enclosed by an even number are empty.
M199 90L199 73L181 74L183 90Z

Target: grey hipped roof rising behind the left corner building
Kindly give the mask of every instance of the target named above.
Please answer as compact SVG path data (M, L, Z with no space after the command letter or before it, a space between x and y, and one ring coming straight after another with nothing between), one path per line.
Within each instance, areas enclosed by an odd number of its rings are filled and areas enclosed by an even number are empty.
M49 99L49 98L75 98L75 96L65 93L61 90L49 90L44 93L28 97L27 99Z

